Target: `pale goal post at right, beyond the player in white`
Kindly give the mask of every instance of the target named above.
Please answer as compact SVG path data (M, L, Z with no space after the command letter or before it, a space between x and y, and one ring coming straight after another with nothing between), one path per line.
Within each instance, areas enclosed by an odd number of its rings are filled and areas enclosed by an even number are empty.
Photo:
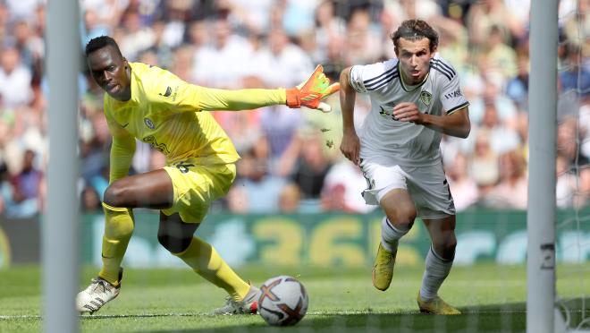
M531 2L527 333L551 333L555 320L558 3Z

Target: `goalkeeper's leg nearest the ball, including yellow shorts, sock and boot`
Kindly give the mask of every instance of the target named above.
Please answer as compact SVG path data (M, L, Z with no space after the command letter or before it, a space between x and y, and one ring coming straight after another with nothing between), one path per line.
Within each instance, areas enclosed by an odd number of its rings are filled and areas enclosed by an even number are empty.
M188 159L164 169L173 179L175 197L173 206L160 214L158 241L200 276L229 294L227 304L214 313L256 312L258 288L241 279L213 246L194 236L211 202L228 191L235 177L235 166L205 167Z

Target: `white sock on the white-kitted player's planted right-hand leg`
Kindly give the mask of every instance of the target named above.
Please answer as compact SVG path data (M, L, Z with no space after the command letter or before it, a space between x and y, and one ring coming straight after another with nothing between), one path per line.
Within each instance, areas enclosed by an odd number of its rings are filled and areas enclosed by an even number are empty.
M452 260L444 260L434 252L432 245L426 255L426 269L420 286L420 297L425 301L431 301L438 294L438 289L451 271Z

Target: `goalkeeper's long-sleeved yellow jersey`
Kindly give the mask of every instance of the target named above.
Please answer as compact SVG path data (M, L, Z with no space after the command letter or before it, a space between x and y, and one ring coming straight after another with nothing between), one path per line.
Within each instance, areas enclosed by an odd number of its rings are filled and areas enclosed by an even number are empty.
M182 81L173 73L141 63L131 65L131 99L105 94L111 134L111 179L129 172L135 140L149 143L168 165L197 158L201 165L233 163L240 158L232 141L209 110L243 110L285 104L285 90L215 90Z

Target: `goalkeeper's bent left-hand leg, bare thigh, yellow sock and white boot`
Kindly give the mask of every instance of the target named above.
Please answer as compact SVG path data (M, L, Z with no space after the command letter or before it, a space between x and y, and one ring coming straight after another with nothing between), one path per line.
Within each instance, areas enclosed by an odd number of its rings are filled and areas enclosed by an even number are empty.
M76 304L79 312L97 312L113 300L121 289L121 262L133 233L132 208L164 208L172 205L173 184L163 170L131 175L110 184L105 191L105 233L102 243L103 267L98 277L81 291Z

